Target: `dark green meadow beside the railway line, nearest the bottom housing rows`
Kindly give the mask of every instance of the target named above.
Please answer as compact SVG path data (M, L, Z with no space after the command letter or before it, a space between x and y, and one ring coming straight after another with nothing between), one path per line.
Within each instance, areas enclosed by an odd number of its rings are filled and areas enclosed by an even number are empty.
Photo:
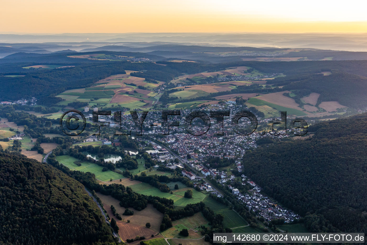
M214 199L210 197L206 197L203 202L207 205L214 213L221 213L224 216L224 226L229 228L247 226L248 223L244 220L235 210L231 210L228 206L223 205L222 203L216 202Z

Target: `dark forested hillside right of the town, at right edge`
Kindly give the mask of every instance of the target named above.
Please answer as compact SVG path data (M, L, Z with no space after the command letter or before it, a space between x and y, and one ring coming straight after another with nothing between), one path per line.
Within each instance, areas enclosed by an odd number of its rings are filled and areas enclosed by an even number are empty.
M259 147L244 171L310 231L367 233L367 115L309 127L312 138Z

